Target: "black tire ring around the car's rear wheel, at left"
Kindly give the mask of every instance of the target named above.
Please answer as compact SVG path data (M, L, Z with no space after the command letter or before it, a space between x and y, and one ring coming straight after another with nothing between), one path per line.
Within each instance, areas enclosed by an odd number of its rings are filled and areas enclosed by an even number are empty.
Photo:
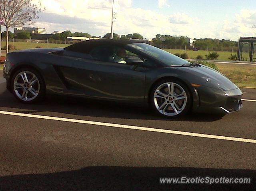
M39 88L38 95L33 100L24 101L20 97L18 97L17 94L14 91L14 80L15 80L16 76L18 74L20 74L21 72L31 72L38 79L40 88ZM45 92L46 92L44 79L42 78L42 76L36 70L34 70L32 68L20 68L19 70L17 70L14 73L14 75L12 76L10 87L11 87L12 93L14 94L14 97L16 97L16 99L18 99L20 102L26 103L26 104L36 103L36 102L42 101L44 99Z

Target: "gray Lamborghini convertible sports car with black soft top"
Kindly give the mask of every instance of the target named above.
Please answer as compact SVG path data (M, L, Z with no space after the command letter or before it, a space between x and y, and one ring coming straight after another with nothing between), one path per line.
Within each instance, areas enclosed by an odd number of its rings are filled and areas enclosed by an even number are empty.
M23 103L70 95L149 104L167 117L242 107L242 92L220 72L136 41L88 40L11 52L4 78Z

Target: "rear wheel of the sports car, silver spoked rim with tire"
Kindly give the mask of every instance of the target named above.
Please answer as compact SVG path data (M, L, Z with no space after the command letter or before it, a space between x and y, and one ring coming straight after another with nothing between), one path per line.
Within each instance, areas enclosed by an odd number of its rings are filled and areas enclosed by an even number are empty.
M14 74L12 87L14 96L23 103L36 102L44 93L44 83L40 75L29 68Z

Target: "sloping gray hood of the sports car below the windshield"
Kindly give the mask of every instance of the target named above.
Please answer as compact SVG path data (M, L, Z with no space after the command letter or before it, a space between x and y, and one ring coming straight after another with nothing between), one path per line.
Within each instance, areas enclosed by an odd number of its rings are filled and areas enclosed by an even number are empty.
M208 66L200 65L200 67L180 67L180 70L186 70L186 72L193 75L196 82L192 83L195 84L224 91L238 88L238 86L231 82L226 76Z

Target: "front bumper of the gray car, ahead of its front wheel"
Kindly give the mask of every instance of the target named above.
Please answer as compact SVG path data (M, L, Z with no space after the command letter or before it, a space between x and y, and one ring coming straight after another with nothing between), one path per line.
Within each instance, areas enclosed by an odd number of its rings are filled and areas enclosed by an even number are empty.
M194 112L232 113L243 107L242 92L239 88L223 91L201 86L194 92Z

